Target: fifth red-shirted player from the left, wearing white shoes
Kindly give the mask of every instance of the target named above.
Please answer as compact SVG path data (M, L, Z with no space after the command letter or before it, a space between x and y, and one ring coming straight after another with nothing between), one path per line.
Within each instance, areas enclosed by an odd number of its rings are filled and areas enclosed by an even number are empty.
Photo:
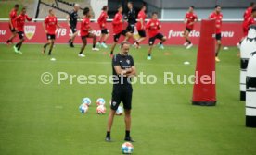
M109 30L107 29L107 18L109 18L108 10L109 10L108 6L103 6L102 12L101 12L100 16L97 18L97 23L101 30L101 34L100 34L99 40L97 42L97 45L99 47L103 46L104 48L108 48L108 46L106 45L106 41L109 38Z

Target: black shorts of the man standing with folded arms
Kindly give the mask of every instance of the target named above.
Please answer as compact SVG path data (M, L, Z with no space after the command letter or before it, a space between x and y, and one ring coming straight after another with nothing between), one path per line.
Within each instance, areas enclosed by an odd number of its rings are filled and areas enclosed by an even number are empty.
M116 111L121 101L123 108L126 110L132 109L133 89L113 89L111 99L111 109Z

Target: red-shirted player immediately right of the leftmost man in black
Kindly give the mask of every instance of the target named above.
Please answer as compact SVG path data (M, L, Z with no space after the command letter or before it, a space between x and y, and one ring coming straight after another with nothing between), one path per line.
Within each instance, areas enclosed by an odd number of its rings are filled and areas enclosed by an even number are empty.
M98 48L96 48L96 35L91 33L93 29L90 26L90 18L91 18L91 12L88 7L85 7L83 9L83 21L81 22L81 28L80 28L80 34L81 34L81 39L83 42L83 45L81 47L80 53L78 56L80 57L85 57L83 54L83 50L87 45L87 38L93 38L93 51L98 51Z

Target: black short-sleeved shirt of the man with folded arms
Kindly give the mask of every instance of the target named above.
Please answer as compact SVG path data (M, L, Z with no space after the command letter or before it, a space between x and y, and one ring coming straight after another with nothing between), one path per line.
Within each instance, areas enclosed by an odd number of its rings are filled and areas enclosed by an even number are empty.
M121 66L121 69L131 68L134 66L134 59L131 55L115 54L112 59L113 68L113 88L114 89L131 89L132 85L127 77L117 75L114 66Z

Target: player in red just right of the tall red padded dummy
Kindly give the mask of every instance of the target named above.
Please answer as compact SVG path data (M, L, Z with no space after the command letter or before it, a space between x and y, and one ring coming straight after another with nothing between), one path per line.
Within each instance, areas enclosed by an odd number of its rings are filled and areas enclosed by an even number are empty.
M223 14L221 13L222 7L217 5L215 6L214 12L211 13L209 18L215 19L216 22L216 33L215 33L215 38L217 41L217 48L216 48L216 53L215 53L215 61L220 62L221 60L218 57L218 54L221 50L222 47L222 24L223 24Z

